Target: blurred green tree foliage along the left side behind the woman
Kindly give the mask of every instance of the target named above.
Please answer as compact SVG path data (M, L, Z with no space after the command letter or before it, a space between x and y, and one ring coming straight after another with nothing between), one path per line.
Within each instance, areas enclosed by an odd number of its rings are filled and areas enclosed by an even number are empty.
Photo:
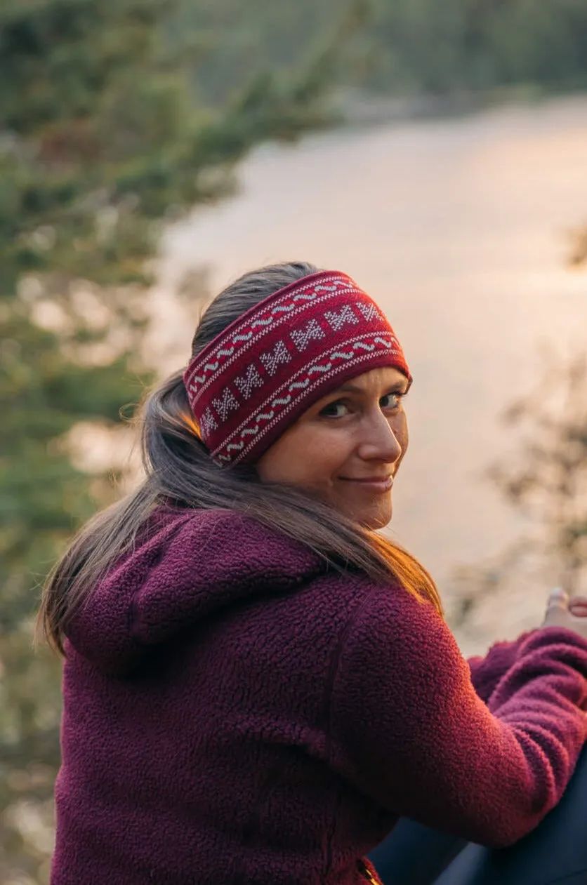
M228 196L259 142L328 122L321 96L353 21L305 65L243 70L212 106L198 97L203 55L180 40L176 5L0 6L2 881L48 877L59 667L32 649L39 586L116 494L116 473L76 463L72 430L114 431L151 380L142 342L162 226Z

